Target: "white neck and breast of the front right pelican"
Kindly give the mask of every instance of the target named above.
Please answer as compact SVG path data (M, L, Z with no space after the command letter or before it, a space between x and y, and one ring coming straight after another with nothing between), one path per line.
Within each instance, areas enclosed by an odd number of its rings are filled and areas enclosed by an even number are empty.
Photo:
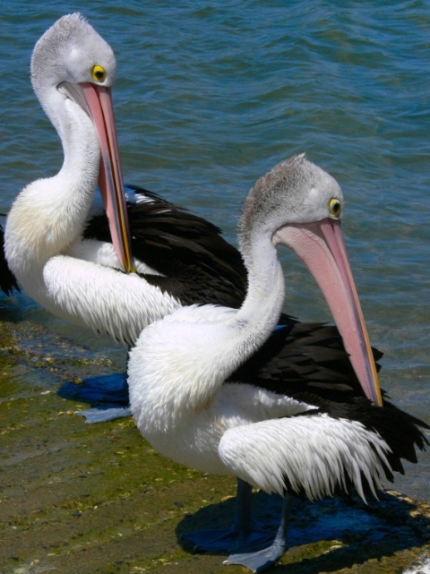
M172 430L208 407L222 383L276 326L283 274L271 236L254 235L245 253L249 285L240 310L179 309L143 330L131 351L131 405L144 436Z

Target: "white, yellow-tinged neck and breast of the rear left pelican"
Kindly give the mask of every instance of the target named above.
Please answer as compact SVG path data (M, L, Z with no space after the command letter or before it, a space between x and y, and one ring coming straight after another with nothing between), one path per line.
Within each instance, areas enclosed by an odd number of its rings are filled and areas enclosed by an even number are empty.
M56 176L25 187L7 219L6 257L24 289L29 279L39 279L48 259L80 236L99 176L99 143L90 117L56 89L38 97L63 143L64 164Z

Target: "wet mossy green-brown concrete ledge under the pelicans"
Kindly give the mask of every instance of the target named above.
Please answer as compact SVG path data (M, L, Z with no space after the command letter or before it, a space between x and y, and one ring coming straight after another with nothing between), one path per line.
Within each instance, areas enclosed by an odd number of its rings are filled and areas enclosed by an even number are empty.
M0 572L246 572L193 554L180 535L225 526L235 480L180 467L132 419L84 424L67 381L111 373L106 360L27 321L0 321ZM254 494L274 519L279 504ZM430 508L394 491L381 503L296 501L291 544L273 571L397 574L430 556Z

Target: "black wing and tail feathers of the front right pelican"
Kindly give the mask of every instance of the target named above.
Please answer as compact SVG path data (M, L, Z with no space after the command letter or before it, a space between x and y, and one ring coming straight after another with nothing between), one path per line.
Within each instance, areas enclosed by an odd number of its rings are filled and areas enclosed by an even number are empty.
M383 356L377 349L373 351L376 361ZM379 371L378 364L377 368ZM402 458L417 462L415 448L425 450L428 444L418 428L428 429L428 424L386 399L383 407L374 407L364 396L335 327L297 322L278 328L262 348L233 373L228 380L231 382L254 384L315 407L297 416L325 413L332 418L364 424L387 442L391 449L387 459L396 472L403 473ZM388 469L386 475L392 480ZM288 490L288 484L286 488Z

